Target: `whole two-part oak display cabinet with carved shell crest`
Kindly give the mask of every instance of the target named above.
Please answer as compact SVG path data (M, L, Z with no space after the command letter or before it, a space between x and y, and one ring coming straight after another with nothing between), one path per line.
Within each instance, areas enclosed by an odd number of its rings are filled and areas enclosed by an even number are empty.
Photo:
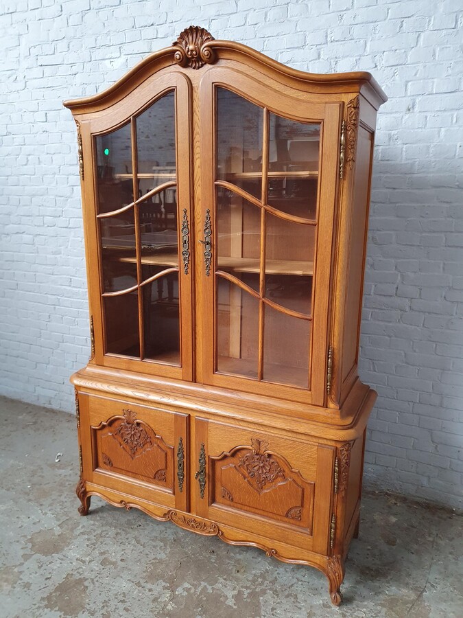
M189 27L78 126L91 358L77 494L325 573L340 604L376 393L357 358L377 109Z

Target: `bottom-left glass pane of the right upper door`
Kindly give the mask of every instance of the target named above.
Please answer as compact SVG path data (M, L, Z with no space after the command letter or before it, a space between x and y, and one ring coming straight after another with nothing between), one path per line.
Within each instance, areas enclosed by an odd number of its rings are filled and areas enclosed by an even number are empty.
M257 378L259 301L217 277L217 371Z

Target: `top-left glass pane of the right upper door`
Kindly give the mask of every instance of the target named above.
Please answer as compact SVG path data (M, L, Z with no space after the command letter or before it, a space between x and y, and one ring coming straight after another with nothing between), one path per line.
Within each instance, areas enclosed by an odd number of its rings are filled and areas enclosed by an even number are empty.
M263 110L217 88L217 179L261 198Z

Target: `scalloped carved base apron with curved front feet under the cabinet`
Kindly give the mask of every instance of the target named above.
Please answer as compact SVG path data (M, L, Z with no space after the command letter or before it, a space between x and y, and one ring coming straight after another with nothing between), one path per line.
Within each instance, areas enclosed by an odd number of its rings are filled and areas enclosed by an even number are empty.
M87 515L90 508L91 496L98 496L110 505L130 509L139 509L158 521L171 521L180 528L202 534L202 536L217 536L220 540L228 543L228 545L244 545L248 547L257 547L265 551L265 555L287 562L289 564L305 564L308 567L314 567L324 573L329 582L329 595L333 605L338 606L342 602L342 594L340 592L341 584L344 580L344 559L342 556L322 556L318 553L305 551L290 545L285 545L282 542L272 542L274 547L265 545L265 539L257 535L246 532L247 539L240 538L244 533L230 526L217 525L211 520L204 519L198 516L192 516L189 513L179 510L165 510L165 507L156 505L127 496L113 490L86 483L84 479L80 479L75 490L82 505L78 508L80 515ZM292 557L292 555L294 557Z

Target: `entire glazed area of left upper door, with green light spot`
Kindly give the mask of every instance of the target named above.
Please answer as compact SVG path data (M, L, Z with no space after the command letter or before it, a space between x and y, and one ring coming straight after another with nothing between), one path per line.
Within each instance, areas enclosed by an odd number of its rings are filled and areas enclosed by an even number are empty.
M131 122L95 137L105 352L178 366L175 92Z

